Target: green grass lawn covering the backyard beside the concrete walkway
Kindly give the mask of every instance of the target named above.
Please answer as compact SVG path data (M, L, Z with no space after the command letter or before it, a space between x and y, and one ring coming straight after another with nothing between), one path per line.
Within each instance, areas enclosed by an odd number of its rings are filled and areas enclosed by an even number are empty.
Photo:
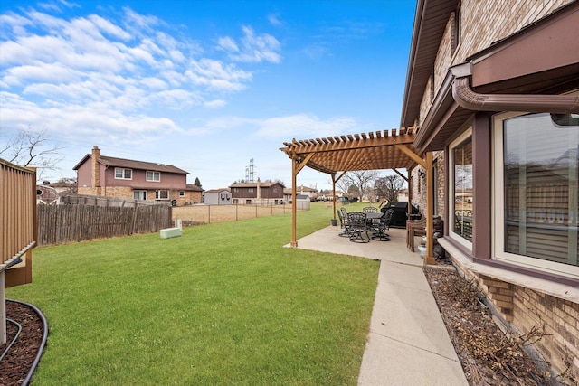
M299 212L299 237L331 215ZM34 249L33 284L7 290L48 319L33 383L356 384L379 263L283 248L290 224Z

